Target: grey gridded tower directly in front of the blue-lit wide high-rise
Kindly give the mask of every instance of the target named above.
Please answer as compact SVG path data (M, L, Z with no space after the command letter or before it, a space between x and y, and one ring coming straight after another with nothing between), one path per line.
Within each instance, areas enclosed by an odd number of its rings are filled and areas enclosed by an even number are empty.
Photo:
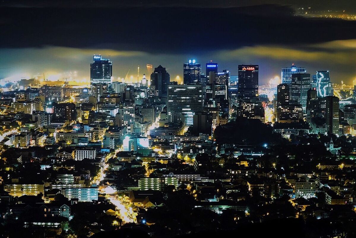
M307 92L310 89L310 74L293 74L290 87L290 102L307 107Z

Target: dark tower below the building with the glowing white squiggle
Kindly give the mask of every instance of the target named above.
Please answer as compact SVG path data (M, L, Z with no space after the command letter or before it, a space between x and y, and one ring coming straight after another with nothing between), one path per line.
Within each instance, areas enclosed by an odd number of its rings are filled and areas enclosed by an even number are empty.
M320 98L319 107L325 118L328 132L339 134L339 98L335 96Z

